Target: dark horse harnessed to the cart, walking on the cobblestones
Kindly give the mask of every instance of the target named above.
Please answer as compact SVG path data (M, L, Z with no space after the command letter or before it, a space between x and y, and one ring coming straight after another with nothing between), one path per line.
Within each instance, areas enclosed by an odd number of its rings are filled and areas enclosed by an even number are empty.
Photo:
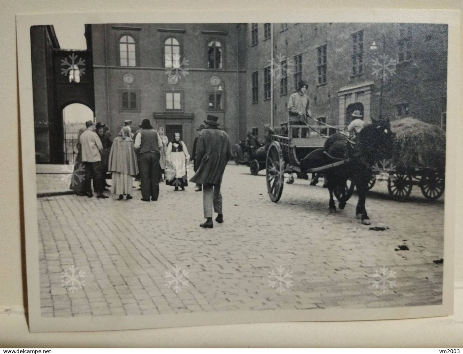
M340 133L333 134L326 139L323 153L318 154L318 161L307 155L301 160L301 168L327 165L336 161L349 159L344 165L324 171L330 191L330 213L336 212L333 191L340 192L339 209L343 210L346 205L345 185L348 179L355 183L358 193L356 216L362 219L362 224L369 225L369 217L365 209L365 197L368 190L368 183L371 180L372 168L377 161L390 157L392 151L394 134L390 130L388 120L373 120L365 126L355 142L348 140ZM317 167L317 166L315 166Z

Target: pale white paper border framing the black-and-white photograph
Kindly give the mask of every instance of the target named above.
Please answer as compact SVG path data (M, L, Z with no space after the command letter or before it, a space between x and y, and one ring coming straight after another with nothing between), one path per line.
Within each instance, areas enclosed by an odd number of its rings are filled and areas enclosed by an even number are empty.
M248 22L375 22L375 23L443 23L448 24L447 115L459 117L460 13L458 10L399 9L317 9L310 12L94 12L17 15L19 70L20 146L22 159L24 230L26 248L27 298L31 332L94 331L147 329L196 325L300 322L358 321L448 316L453 313L454 240L456 236L457 166L454 156L460 152L457 119L447 120L445 208L444 208L444 279L441 305L380 309L313 309L281 311L226 311L173 315L41 317L36 165L34 145L31 38L32 25L73 25L105 23L248 23ZM349 19L349 20L348 20ZM362 19L355 21L353 19ZM115 321L117 319L117 321Z

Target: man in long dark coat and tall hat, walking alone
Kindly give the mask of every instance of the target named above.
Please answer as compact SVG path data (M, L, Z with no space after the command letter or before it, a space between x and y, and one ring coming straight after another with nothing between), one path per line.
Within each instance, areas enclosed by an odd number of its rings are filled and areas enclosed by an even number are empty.
M228 160L232 157L232 145L228 134L219 128L215 116L207 115L206 129L200 132L196 147L198 170L190 180L203 186L203 207L206 222L201 227L212 229L212 208L218 214L215 221L224 222L222 214L222 194L220 184Z

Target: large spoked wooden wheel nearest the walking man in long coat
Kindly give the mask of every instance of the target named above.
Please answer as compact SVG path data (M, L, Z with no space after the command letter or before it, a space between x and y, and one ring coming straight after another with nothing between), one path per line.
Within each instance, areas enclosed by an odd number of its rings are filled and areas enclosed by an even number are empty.
M270 200L274 203L280 200L283 193L285 165L280 144L272 142L267 152L265 176L267 191L269 192Z

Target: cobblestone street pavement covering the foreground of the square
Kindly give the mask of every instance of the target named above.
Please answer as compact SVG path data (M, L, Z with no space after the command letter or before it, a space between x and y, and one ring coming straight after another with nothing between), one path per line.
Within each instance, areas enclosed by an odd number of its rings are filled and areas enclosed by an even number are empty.
M51 178L51 177L50 177ZM265 171L229 164L222 184L224 224L201 229L202 193L160 185L157 202L38 198L43 316L140 315L193 311L365 308L441 304L444 200L428 202L415 187L406 203L376 183L367 196L370 226L355 218L354 193L328 213L328 191L296 179L272 203ZM214 215L215 217L215 215ZM370 227L386 230L369 230ZM409 250L395 250L407 245ZM85 272L69 291L62 272ZM166 286L173 267L188 272L180 291ZM292 280L272 288L269 272ZM376 270L394 271L395 286L372 286ZM282 268L280 268L282 269ZM389 270L388 270L389 272ZM389 274L389 273L387 273ZM182 278L186 279L186 278ZM388 285L388 284L386 284Z

